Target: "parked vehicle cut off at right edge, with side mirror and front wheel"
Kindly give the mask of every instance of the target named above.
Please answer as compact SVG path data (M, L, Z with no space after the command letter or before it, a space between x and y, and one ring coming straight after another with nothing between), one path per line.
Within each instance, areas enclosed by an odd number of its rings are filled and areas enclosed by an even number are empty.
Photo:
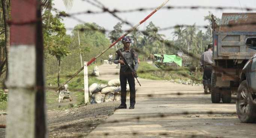
M249 37L246 45L256 49L256 37ZM236 95L236 113L242 123L256 123L256 54L245 64L241 84Z

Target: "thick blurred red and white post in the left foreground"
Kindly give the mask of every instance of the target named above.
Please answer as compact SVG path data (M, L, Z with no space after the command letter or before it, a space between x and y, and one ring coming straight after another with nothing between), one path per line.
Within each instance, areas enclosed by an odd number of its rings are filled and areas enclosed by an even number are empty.
M12 0L6 138L46 138L41 0Z

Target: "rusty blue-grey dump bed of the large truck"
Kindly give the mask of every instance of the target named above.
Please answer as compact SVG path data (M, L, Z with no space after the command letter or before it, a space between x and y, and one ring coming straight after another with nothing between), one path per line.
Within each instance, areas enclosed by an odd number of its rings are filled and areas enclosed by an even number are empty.
M213 27L214 60L248 60L256 53L245 45L248 37L256 37L256 13L223 13L220 26Z

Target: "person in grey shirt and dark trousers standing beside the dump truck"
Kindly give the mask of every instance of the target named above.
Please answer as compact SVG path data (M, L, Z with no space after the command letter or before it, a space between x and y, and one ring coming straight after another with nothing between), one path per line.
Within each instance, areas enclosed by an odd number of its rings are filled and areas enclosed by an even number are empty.
M201 59L200 59L200 65L203 68L203 89L205 90L205 93L208 93L208 88L211 82L211 75L212 75L212 44L208 45L208 50L203 52Z

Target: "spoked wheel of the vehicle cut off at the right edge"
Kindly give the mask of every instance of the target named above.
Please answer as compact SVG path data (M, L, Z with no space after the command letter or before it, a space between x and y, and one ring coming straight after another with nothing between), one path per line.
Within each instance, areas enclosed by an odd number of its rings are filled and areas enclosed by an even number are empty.
M256 123L256 105L249 98L247 81L238 87L236 95L236 113L242 123Z

